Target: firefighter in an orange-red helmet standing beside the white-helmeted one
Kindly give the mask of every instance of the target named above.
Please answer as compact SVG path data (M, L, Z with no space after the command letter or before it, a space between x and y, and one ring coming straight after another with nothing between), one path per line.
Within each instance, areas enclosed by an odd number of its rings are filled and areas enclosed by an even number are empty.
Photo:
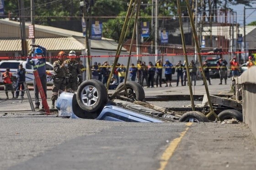
M66 53L61 51L58 54L59 60L53 62L53 71L55 73L53 77L53 95L51 97L52 107L55 107L55 100L57 100L59 93L62 93L65 90L67 82L69 82L68 77L68 68L65 67L64 57Z

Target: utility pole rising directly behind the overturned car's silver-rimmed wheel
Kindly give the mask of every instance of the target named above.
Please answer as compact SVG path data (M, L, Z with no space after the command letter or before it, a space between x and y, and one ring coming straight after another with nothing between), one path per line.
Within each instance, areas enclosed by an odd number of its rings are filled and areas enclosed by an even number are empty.
M85 21L85 55L86 57L86 79L90 80L91 79L91 19L86 19L86 12L91 14L91 1L88 2L88 0L85 1L80 1L80 7L83 11L83 18ZM88 34L89 33L89 34Z

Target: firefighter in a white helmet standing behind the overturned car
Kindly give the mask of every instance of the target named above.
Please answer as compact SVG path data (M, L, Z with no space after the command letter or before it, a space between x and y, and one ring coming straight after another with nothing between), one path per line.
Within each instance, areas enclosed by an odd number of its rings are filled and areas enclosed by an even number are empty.
M75 51L71 50L69 52L69 59L64 61L64 64L68 64L68 72L69 72L69 82L66 85L66 92L74 93L78 84L82 83L82 75L79 63L75 60ZM79 82L77 82L77 78L79 78Z

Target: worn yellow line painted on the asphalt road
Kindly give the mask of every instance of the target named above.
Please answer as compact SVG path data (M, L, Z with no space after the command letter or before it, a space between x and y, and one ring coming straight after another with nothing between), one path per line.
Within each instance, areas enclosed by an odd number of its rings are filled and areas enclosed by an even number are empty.
M186 125L191 126L192 122L188 122ZM173 139L171 141L171 143L169 144L169 146L165 149L165 152L161 156L160 168L158 170L164 170L165 169L165 167L168 163L168 160L170 160L170 158L173 155L175 149L180 144L181 139L185 136L188 129L189 129L189 127L187 127L183 132L181 132L180 137Z

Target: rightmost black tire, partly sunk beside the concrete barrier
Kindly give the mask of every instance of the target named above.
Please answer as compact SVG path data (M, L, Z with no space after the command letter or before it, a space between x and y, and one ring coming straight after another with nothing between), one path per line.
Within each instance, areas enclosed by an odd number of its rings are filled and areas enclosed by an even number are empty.
M232 118L234 118L240 122L243 121L243 114L234 109L224 110L224 111L220 112L218 114L218 116L221 121L223 121L225 119L232 119Z

